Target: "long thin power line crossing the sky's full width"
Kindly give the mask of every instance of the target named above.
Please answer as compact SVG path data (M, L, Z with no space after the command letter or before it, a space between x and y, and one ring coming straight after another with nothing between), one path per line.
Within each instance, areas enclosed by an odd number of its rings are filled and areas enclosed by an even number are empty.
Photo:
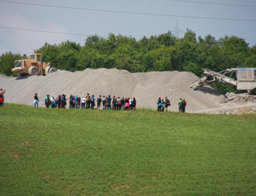
M65 8L65 9L87 10L87 11L122 13L122 14L168 16L168 17L184 17L184 18L200 18L200 19L218 19L218 20L256 21L256 19L219 18L219 17L185 16L185 15L155 14L155 13L142 13L142 12L125 12L125 11L116 11L116 10L102 10L102 9L89 9L89 8L77 8L77 7L66 7L66 6L53 6L53 5L46 5L46 4L32 4L32 3L10 2L10 1L2 1L2 0L0 0L0 2L13 3L13 4L24 4L24 5L32 5L32 6L42 6L42 7L53 7L53 8Z

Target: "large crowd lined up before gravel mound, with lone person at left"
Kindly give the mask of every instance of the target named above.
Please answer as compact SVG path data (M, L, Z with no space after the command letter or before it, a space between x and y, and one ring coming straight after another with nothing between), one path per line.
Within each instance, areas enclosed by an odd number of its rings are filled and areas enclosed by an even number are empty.
M58 107L66 108L67 101L69 101L69 108L90 108L90 109L100 109L101 103L103 110L136 110L136 99L134 98L120 98L116 96L111 97L111 95L95 98L94 95L90 96L88 93L86 97L78 95L70 95L67 99L66 95L59 95L57 98L54 98L50 95L45 97L46 107ZM96 107L97 103L97 107ZM34 96L35 107L38 107L39 99L37 93Z

